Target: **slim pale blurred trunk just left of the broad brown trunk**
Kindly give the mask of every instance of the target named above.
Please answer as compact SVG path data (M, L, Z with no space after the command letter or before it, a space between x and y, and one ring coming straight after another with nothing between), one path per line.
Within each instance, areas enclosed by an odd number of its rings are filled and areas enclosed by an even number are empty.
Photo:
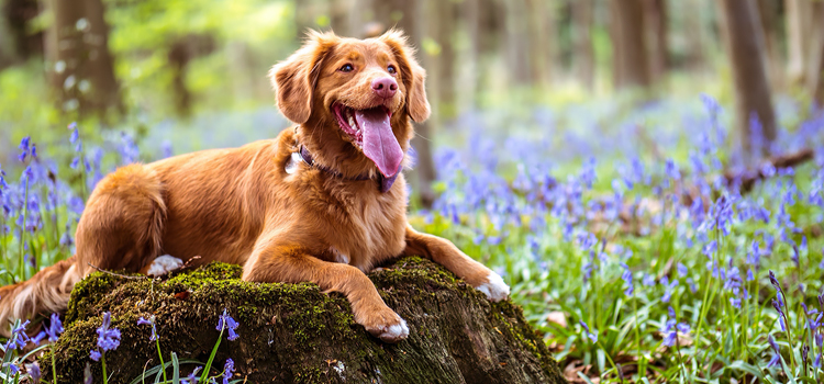
M595 83L595 58L592 49L593 0L578 0L572 3L572 63L578 81L590 92Z

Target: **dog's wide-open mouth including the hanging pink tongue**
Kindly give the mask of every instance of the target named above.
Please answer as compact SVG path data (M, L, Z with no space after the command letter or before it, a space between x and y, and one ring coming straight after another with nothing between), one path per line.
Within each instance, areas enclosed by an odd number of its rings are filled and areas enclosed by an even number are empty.
M335 103L332 106L346 135L352 138L366 157L378 167L380 173L391 178L400 171L403 150L392 133L390 117L392 113L385 106L368 110L355 110Z

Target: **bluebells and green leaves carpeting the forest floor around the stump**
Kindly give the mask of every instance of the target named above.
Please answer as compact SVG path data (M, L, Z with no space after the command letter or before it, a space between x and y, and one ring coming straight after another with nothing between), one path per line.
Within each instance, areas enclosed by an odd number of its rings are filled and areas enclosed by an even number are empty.
M438 148L438 199L412 225L504 275L572 381L821 381L824 112L781 101L784 128L746 157L701 101L461 115L445 135L466 145ZM71 255L94 182L151 160L90 131L48 158L21 145L19 181L0 182L2 283Z

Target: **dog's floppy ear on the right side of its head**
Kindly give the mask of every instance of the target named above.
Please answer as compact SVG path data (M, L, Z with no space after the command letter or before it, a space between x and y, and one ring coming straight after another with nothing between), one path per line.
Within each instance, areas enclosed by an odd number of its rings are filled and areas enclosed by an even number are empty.
M400 67L401 81L407 88L407 110L415 122L423 122L430 117L430 102L426 100L426 71L415 61L414 49L407 44L402 32L390 30L378 39L382 41L394 53Z

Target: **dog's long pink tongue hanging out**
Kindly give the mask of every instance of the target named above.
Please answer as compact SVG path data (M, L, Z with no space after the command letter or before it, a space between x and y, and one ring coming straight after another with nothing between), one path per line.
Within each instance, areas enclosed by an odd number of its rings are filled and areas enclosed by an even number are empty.
M393 177L401 168L403 150L389 125L389 114L376 108L355 111L355 118L364 131L364 155L378 166L385 177Z

